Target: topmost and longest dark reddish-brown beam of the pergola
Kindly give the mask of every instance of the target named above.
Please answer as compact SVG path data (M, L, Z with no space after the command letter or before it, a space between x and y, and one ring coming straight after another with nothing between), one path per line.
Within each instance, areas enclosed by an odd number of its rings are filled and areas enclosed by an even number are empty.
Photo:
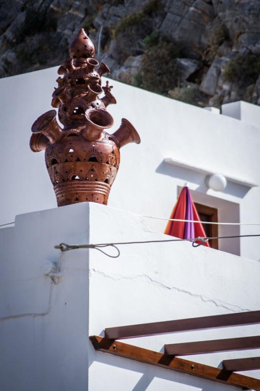
M132 326L110 327L105 329L105 337L109 339L125 339L206 328L254 325L257 323L260 323L260 311L248 311Z

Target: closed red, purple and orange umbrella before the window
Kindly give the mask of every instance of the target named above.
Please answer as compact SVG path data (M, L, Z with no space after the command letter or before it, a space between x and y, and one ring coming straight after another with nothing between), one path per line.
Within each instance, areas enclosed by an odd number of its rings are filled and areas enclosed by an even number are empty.
M188 187L183 187L181 189L170 218L200 221L199 214L196 210ZM193 239L198 236L206 237L201 223L185 221L168 221L164 234L175 236L180 239ZM210 247L208 242L203 243L203 245Z

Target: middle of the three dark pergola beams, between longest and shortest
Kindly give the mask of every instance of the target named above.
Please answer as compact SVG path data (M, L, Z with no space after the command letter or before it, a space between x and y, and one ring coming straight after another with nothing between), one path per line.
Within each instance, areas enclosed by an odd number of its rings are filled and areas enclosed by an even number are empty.
M164 346L164 353L173 356L186 356L190 354L257 348L260 348L260 336L169 344Z

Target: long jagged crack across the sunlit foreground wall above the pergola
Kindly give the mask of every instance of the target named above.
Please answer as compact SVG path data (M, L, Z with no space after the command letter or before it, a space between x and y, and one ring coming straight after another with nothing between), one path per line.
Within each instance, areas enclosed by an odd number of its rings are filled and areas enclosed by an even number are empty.
M92 268L90 271L89 271L89 276L91 277L92 276L92 273L97 273L99 274L101 277L105 277L105 278L109 278L111 280L114 280L114 281L119 281L119 280L134 280L134 279L140 279L140 278L145 278L146 280L148 280L148 282L152 282L154 285L157 285L159 286L160 288L163 288L163 289L168 289L168 290L176 290L180 293L184 293L184 294L187 294L189 296L192 296L196 299L199 299L201 300L202 302L204 303L212 303L214 305L216 305L216 307L221 307L221 308L225 308L225 309L228 309L229 311L232 311L232 312L238 312L238 311L251 311L249 308L242 308L236 304L231 304L231 303L226 303L226 302L223 302L221 300L218 300L218 299L212 299L212 298L209 298L207 296L204 296L204 295L200 295L200 294L196 294L196 293L192 293L192 292L189 292L188 290L186 289L182 289L182 288L179 288L178 286L168 286L168 285L165 285L163 284L162 282L160 281L156 281L156 280L153 280L150 276L146 275L146 274L140 274L140 275L135 275L135 276L132 276L132 277L127 277L127 276L121 276L121 275L116 275L116 274L105 274L104 272L101 272L99 270L96 270L95 268ZM147 281L146 281L147 282Z

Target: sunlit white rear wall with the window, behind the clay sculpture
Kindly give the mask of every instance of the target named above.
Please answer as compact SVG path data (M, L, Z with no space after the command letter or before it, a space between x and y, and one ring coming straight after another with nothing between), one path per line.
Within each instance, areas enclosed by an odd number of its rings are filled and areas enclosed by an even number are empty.
M0 223L13 221L20 213L56 206L56 199L44 164L44 153L29 149L31 125L51 109L57 68L0 80L1 187ZM121 150L118 177L109 205L140 215L169 217L178 191L185 182L197 202L219 208L219 220L260 221L260 189L228 184L223 192L207 190L204 175L168 166L165 157L247 181L260 183L260 128L245 121L251 115L257 123L259 107L243 104L219 115L135 87L112 81L118 104L108 109L115 118L129 119L140 132L140 145ZM242 111L241 111L242 110ZM258 114L259 115L259 114ZM251 116L251 117L252 117ZM166 222L150 220L163 232ZM220 228L220 235L259 233L257 227ZM220 241L220 250L260 260L260 239Z

